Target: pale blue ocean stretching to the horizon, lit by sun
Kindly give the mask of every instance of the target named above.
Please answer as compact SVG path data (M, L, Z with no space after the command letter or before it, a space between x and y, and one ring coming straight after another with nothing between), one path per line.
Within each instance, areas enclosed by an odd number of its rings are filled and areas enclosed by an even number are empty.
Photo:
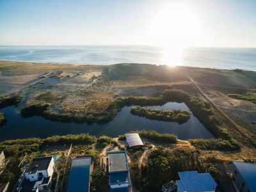
M166 60L166 55L169 60ZM256 48L189 47L180 52L178 59L177 55L177 51L142 45L0 46L0 60L10 61L150 63L256 71Z

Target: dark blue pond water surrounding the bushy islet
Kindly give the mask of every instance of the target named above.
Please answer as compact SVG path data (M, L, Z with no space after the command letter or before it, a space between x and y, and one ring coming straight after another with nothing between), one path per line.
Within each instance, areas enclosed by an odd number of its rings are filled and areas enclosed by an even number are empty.
M198 119L190 115L188 122L178 124L176 122L163 122L150 120L145 117L135 116L130 113L132 106L125 106L106 124L76 124L52 122L41 116L22 118L14 106L0 109L6 115L7 122L0 127L0 140L39 137L47 138L52 135L79 134L88 132L89 134L100 136L107 135L116 137L132 130L155 130L161 133L172 133L180 140L193 138L213 138L212 134L205 129ZM168 102L163 106L148 106L151 109L185 109L189 111L184 103Z

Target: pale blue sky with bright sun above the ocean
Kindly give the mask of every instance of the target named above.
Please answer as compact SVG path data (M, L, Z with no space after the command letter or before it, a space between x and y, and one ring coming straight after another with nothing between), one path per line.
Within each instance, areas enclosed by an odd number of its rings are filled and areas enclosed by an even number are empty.
M256 47L256 1L0 0L0 45Z

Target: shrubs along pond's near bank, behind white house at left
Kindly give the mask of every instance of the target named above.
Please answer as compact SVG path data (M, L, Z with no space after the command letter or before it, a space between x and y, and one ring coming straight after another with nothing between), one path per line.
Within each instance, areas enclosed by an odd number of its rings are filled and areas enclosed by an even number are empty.
M100 151L93 145L97 142L95 136L89 134L68 134L65 136L52 136L49 138L25 138L19 140L5 140L0 142L0 149L4 151L9 163L4 170L4 173L0 175L0 180L4 182L11 181L10 185L15 186L15 180L19 178L20 169L17 166L20 164L23 158L26 159L24 163L29 163L33 157L38 156L53 156L58 154L58 170L63 170L66 163L66 152L70 148L72 143L72 154L83 156L91 156L93 161L99 163ZM62 156L61 154L64 154ZM69 162L69 161L68 161ZM61 177L63 177L61 175Z

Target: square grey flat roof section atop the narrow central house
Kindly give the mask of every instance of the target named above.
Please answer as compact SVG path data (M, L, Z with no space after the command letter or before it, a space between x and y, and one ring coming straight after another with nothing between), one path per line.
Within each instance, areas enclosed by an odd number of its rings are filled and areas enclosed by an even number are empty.
M125 151L108 152L109 172L128 171L127 156Z

